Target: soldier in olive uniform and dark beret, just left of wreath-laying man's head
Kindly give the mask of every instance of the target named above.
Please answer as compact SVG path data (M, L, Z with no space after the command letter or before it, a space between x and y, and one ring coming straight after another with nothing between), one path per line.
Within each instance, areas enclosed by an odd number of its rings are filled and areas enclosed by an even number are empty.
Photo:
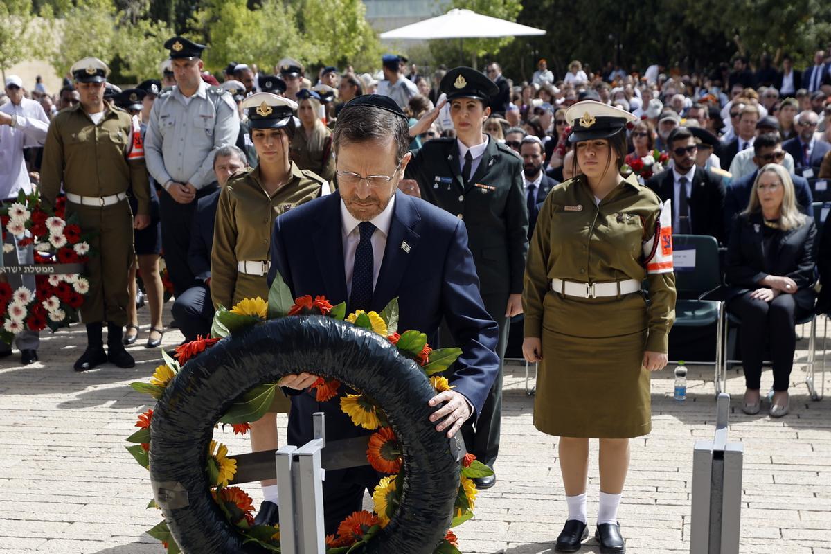
M294 131L292 161L298 168L309 169L332 183L335 178L332 130L320 119L320 95L301 89L297 92L297 106L297 119L302 125Z

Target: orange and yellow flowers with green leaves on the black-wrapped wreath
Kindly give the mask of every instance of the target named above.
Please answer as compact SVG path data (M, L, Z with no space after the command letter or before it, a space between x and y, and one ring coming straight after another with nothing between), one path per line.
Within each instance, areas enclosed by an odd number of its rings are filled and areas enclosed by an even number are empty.
M269 294L269 302L262 298L246 298L234 306L230 311L219 306L214 316L210 338L198 337L196 341L179 346L175 352L175 359L164 353L164 365L156 368L150 378L150 383L136 382L131 386L151 395L159 400L170 385L181 367L188 360L214 346L225 336L243 331L250 326L262 324L269 319L283 316L328 316L340 321L348 321L354 326L374 331L386 337L398 351L414 360L437 392L450 390L452 387L445 377L437 375L446 370L459 357L459 348L442 348L433 350L427 344L427 336L420 331L398 331L398 301L394 299L381 313L358 310L346 315L344 302L332 306L326 297L311 296L291 299L288 287L282 280L274 282ZM251 429L250 422L256 421L270 408L277 391L276 383L258 385L238 398L228 413L219 419L219 424L231 425L234 434L246 434ZM391 521L396 514L401 501L401 483L406 468L402 465L401 445L396 439L386 419L386 414L374 400L365 394L350 390L339 381L320 377L310 387L315 391L318 402L325 402L340 396L343 412L348 414L356 426L375 431L371 434L366 450L366 459L371 467L379 473L386 474L381 478L374 492L372 501L374 510L368 512L354 512L338 526L335 534L326 537L327 554L358 554L372 541L377 532ZM150 465L150 426L153 420L153 409L140 414L135 426L140 428L126 440L133 443L127 450L143 467ZM215 429L219 428L219 424ZM456 493L453 508L453 519L450 527L456 527L473 517L473 508L477 494L474 478L492 475L493 471L484 463L476 460L473 454L466 454L461 463L461 477L458 492ZM208 458L204 470L208 473L209 483L212 483L214 501L228 521L243 534L244 542L257 542L270 552L280 552L280 532L278 526L253 524L253 501L242 488L229 487L229 481L237 472L237 463L234 458L228 457L228 449L224 444L211 441ZM148 507L158 507L151 501ZM167 522L160 522L148 531L150 536L163 542L169 554L181 552L175 543ZM450 529L445 538L435 548L435 554L460 554L455 533Z

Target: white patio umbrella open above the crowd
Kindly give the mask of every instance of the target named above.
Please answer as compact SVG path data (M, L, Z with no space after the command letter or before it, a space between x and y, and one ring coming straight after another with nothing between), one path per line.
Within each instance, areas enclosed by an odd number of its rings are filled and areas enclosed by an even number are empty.
M401 40L432 40L458 38L459 47L465 38L499 38L544 35L543 29L509 22L499 17L484 16L470 10L454 8L450 12L404 27L382 32L381 38Z

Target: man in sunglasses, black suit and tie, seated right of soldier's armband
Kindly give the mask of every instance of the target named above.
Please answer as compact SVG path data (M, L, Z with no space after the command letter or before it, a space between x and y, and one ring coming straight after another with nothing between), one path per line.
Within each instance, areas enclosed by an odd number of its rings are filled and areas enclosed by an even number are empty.
M674 165L647 180L661 202L672 199L672 233L710 235L724 242L725 185L721 178L696 165L697 146L686 127L666 140Z

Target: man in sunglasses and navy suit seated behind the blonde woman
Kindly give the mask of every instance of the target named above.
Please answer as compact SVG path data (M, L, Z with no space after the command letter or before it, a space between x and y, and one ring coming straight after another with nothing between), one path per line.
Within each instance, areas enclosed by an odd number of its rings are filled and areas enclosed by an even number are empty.
M767 133L756 137L753 143L755 154L753 163L756 164L757 168L765 164L782 164L784 149L781 142L779 133ZM730 228L733 226L733 218L735 218L736 213L744 211L750 202L750 193L753 190L753 184L756 182L758 173L759 170L757 169L751 174L736 179L727 187L724 208L725 243L730 240ZM799 210L814 217L814 214L811 213L811 203L814 202L814 196L811 194L808 181L799 175L791 175L790 178L794 181L794 192L796 193L796 203Z

